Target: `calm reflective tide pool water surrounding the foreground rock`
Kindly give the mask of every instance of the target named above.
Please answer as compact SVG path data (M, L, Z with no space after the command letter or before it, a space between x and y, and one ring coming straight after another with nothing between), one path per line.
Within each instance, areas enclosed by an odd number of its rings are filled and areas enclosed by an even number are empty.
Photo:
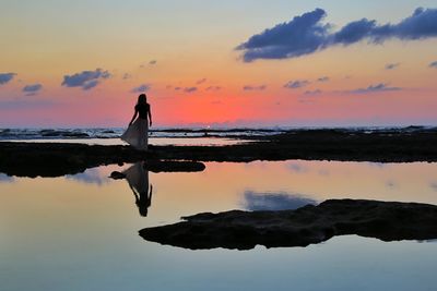
M0 174L0 290L437 286L436 242L346 235L308 247L189 251L138 235L142 228L203 211L296 208L328 198L437 204L437 163L209 162L203 172L149 172L130 184L107 178L130 167L99 167L62 178ZM135 201L135 185L152 185L151 195Z

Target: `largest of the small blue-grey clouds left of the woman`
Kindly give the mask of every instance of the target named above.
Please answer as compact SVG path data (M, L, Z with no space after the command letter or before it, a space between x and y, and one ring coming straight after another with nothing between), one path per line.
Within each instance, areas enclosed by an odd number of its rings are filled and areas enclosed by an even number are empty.
M110 76L108 71L103 71L102 69L82 71L81 73L64 75L61 85L66 87L81 87L87 90L97 86L101 80L109 78Z

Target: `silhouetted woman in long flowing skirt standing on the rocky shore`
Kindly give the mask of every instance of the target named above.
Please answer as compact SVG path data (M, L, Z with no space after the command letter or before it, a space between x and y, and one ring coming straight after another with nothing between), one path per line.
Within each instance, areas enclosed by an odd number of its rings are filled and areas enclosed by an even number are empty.
M145 94L138 96L134 109L132 120L129 122L129 128L121 135L121 140L137 149L147 150L149 125L152 126L152 112Z

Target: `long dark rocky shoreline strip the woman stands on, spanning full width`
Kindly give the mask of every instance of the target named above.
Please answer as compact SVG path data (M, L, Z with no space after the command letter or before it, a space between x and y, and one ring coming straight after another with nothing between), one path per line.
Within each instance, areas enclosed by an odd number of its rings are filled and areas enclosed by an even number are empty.
M257 136L229 146L129 146L0 142L0 172L19 177L59 177L91 167L139 160L233 161L343 160L375 162L437 161L437 132L427 130L300 130Z

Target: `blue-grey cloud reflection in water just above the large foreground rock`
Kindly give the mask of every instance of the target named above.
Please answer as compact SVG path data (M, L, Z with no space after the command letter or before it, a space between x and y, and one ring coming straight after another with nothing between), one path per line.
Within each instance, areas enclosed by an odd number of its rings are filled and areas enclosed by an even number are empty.
M305 205L316 205L315 199L288 193L256 193L246 191L243 207L247 210L286 210L297 209Z

